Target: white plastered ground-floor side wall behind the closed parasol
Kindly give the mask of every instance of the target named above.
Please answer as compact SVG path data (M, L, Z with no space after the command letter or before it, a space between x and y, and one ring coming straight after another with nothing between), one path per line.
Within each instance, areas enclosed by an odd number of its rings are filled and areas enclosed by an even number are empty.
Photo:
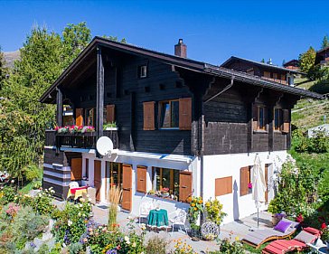
M262 167L265 164L271 164L268 167L268 179L271 179L275 165L280 166L287 157L287 151L277 151L258 153ZM255 202L252 200L252 194L240 197L240 168L253 165L256 153L234 154L234 155L206 155L203 157L203 200L214 199L215 179L232 176L233 193L218 196L217 199L223 204L223 211L228 214L224 218L224 223L238 220L257 212ZM278 160L278 158L280 160ZM274 163L276 164L274 165ZM270 184L271 185L271 184ZM271 188L268 192L268 201L273 199L274 190ZM260 210L267 209L264 205Z

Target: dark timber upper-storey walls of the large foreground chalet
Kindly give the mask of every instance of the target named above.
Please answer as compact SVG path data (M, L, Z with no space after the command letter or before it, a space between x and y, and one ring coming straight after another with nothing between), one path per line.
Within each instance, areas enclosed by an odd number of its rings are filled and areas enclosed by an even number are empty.
M253 78L239 77L239 70L218 77L203 71L202 62L110 43L114 46L106 47L95 42L96 47L89 46L87 54L82 54L84 58L80 56L77 62L73 62L72 66L76 68L69 68L70 75L64 73L63 78L55 83L56 102L70 104L74 114L78 108L96 108L97 136L103 135L99 116L103 119L103 108L112 105L118 125L118 149L157 154L215 155L271 152L290 146L290 132L273 131L271 112L275 107L290 110L302 95L299 89L291 88L292 95L283 88L281 91L274 89L281 89L281 84L269 82L267 87L267 84L262 84L264 81L256 80L263 86L261 88L253 85L255 81L250 80ZM120 47L132 49L127 52ZM146 66L146 77L140 77L141 66ZM217 96L234 77L232 87ZM49 89L42 101L55 103L53 94L54 89ZM160 102L183 98L192 99L192 129L161 128ZM148 101L155 103L153 130L143 128L143 105ZM252 129L252 107L255 104L267 107L266 131ZM61 123L59 115L61 107L58 107L57 116Z

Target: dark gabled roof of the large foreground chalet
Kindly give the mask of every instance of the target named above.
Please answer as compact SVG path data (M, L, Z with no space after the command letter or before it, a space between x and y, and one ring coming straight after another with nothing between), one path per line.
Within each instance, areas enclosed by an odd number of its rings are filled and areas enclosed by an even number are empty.
M97 46L107 47L110 49L114 49L118 52L126 52L133 55L139 55L144 56L149 59L155 60L155 61L161 61L166 64L174 65L183 69L187 69L190 71L197 71L202 72L204 74L222 77L222 78L228 78L230 79L232 76L234 76L235 80L240 80L242 82L248 83L250 85L256 85L261 87L267 87L270 89L277 89L281 90L287 93L295 94L298 96L305 96L310 97L314 99L322 99L322 95L316 94L314 92L310 92L308 90L303 89L296 89L293 87L289 87L287 85L281 85L274 81L261 79L259 77L249 75L240 71L231 71L223 67L214 66L209 63L205 63L202 61L194 61L191 59L182 58L179 56L174 56L171 54L163 53L163 52L155 52L151 51L142 47L137 47L135 45L127 44L127 43L121 43L121 42L113 42L111 40L102 38L102 37L94 37L94 39L89 43L89 45L80 53L80 55L71 63L71 65L61 73L61 76L52 84L52 86L47 89L40 101L46 102L48 97L51 95L51 93L65 80L72 71L78 68L80 63L84 61L87 56L89 56ZM96 57L96 53L95 53ZM285 69L287 71L293 72L291 70ZM296 71L295 71L296 72Z

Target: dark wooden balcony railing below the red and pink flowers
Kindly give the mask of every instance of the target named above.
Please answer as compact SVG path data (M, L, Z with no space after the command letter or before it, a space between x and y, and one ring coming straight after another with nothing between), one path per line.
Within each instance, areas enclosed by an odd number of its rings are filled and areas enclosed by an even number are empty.
M118 130L104 130L104 136L108 136L113 142L113 148L118 149ZM56 133L55 130L46 130L45 146L69 148L96 149L97 133Z

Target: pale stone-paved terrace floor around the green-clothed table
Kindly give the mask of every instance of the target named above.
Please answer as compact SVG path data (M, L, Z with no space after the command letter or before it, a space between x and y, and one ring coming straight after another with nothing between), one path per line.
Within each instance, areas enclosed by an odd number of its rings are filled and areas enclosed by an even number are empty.
M101 223L108 223L108 209L104 205L98 205L93 207L94 220ZM128 214L126 212L118 212L118 224L120 225L121 230L127 230L127 222L129 218L136 218L137 216ZM138 223L134 223L136 230L140 230ZM259 228L267 228L271 226L271 215L268 212L259 212ZM257 229L257 213L253 214L247 218L244 218L240 221L233 221L228 224L221 226L220 239L229 238L230 232L232 233L231 239L234 240L236 237L242 239L246 234L249 233L249 230ZM170 230L169 230L170 232ZM153 230L147 231L146 240L154 235L163 237L164 239L171 242L170 246L174 247L174 240L183 240L187 244L191 245L195 251L198 253L204 253L202 251L215 250L218 249L216 241L214 240L200 240L193 241L191 238L185 234L183 230L174 230L174 233L169 233L164 230L155 232Z

